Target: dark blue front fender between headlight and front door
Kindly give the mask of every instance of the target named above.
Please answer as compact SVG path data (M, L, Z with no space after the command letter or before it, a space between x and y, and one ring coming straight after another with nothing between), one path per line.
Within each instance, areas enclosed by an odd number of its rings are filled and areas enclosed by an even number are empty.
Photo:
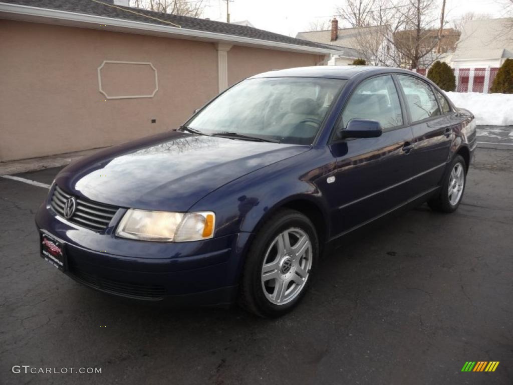
M334 167L326 148L312 149L236 179L211 192L190 210L214 211L215 237L252 233L276 209L292 201L314 204L327 221L328 207L317 181Z

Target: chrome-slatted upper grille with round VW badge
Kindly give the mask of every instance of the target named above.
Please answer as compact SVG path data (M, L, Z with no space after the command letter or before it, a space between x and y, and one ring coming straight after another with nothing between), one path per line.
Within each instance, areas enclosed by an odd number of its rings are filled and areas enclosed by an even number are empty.
M66 218L64 216L64 204L69 198L71 198L70 194L65 192L61 187L55 186L51 205L56 213L64 218ZM68 218L68 221L91 230L101 231L107 228L116 212L117 207L92 202L83 198L76 198L75 212L71 218Z

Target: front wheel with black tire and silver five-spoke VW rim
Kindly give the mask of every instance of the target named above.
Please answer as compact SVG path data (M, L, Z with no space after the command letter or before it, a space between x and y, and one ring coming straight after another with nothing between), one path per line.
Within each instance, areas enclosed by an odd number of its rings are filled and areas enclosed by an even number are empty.
M319 238L312 222L299 211L278 211L260 226L251 243L239 304L260 317L287 314L307 292L318 257Z

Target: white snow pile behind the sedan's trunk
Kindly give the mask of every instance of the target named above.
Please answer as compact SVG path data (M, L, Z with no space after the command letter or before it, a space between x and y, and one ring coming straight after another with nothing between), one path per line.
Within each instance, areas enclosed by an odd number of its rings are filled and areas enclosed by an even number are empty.
M513 126L513 94L445 92L456 107L476 117L477 125Z

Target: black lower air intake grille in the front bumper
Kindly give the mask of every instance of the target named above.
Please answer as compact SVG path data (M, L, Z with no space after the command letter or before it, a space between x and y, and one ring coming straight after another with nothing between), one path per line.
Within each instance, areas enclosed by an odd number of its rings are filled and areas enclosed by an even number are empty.
M144 300L160 300L166 294L162 285L149 285L144 283L131 283L104 278L83 271L76 266L70 266L68 273L77 281L104 292Z

